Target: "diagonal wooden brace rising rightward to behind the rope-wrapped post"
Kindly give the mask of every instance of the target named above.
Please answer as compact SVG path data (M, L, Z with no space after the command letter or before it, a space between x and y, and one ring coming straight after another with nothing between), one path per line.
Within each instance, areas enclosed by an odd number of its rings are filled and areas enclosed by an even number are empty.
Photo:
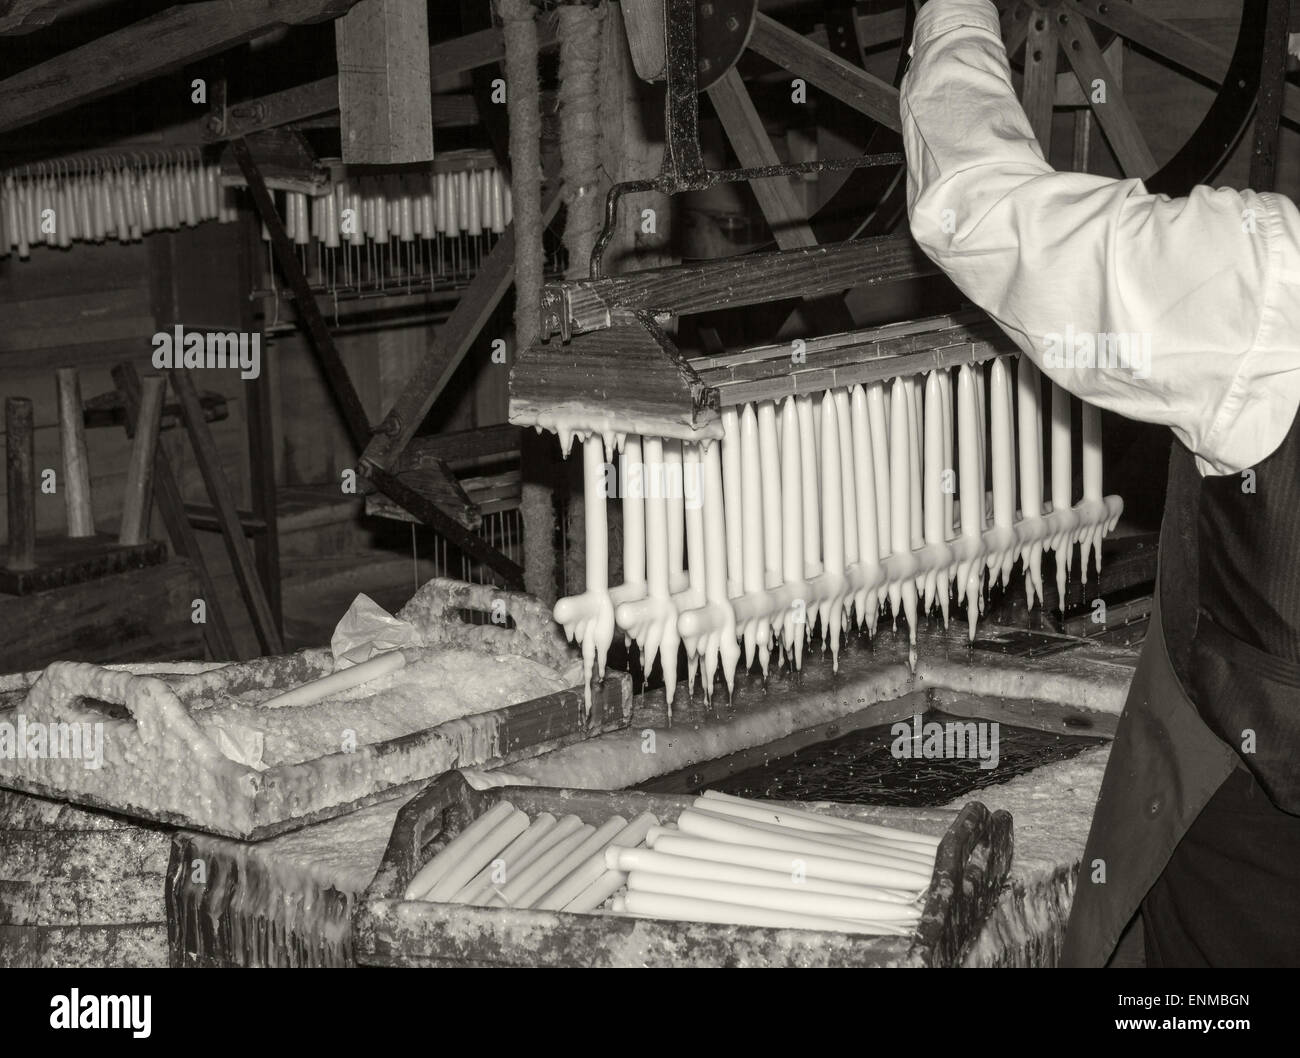
M550 224L560 208L560 181L554 175L542 195L542 225ZM361 471L368 477L373 467L389 468L420 429L488 317L515 281L515 227L506 229L484 260L473 282L465 289L447 321L438 328L433 344L393 403L374 437L361 452ZM378 484L378 482L376 482ZM381 486L382 487L382 486ZM386 489L384 491L387 491ZM389 493L389 498L398 498ZM400 500L398 500L400 502Z

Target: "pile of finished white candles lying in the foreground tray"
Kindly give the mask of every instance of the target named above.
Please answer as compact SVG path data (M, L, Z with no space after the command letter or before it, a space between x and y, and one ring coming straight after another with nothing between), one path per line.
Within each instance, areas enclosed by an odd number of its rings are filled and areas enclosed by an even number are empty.
M675 824L594 827L502 801L454 837L406 899L905 936L939 838L708 792Z

